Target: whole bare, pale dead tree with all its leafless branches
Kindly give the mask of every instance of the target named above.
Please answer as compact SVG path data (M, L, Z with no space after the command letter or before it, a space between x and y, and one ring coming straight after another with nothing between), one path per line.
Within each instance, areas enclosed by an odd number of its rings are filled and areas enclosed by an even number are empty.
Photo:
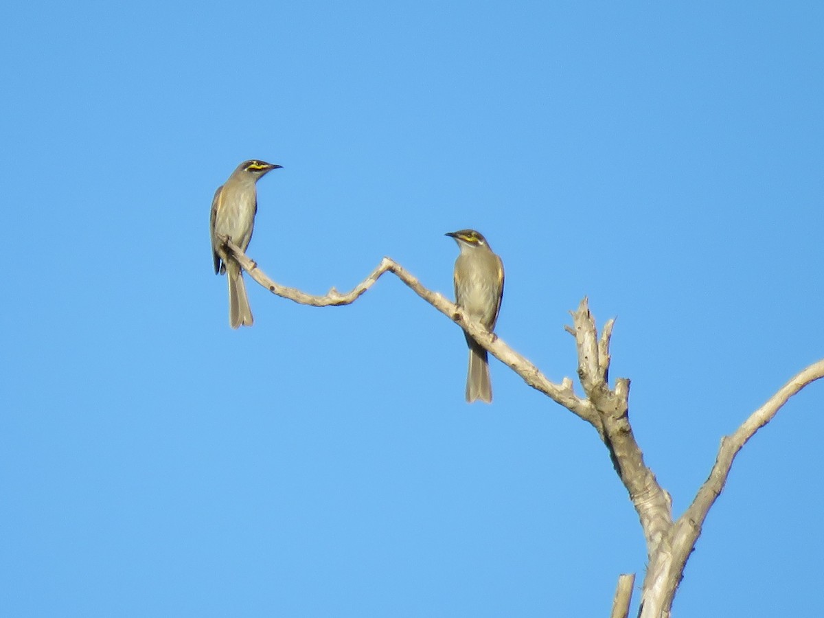
M329 293L315 296L275 283L232 242L227 241L226 246L257 283L279 297L311 307L349 305L372 288L382 274L395 274L424 301L460 325L478 344L521 376L529 386L545 393L556 403L592 424L606 445L616 473L630 494L630 500L644 531L648 564L639 608L641 618L670 616L672 600L678 584L681 583L686 561L695 548L709 509L727 482L737 452L758 429L775 417L790 397L801 391L804 386L824 377L824 360L813 363L751 414L735 433L723 438L709 478L686 512L677 522L673 522L672 499L661 485L658 485L655 475L644 463L644 454L635 441L630 425L630 380L618 378L615 388L609 385L610 340L614 321L606 322L599 337L587 298L581 301L576 311L571 312L574 326L566 327L566 330L574 335L578 349L578 380L585 394L585 397L579 397L575 395L573 383L569 378L564 377L560 384L550 382L535 365L511 349L503 339L486 330L479 322L469 319L442 294L425 288L418 279L388 257L383 258L377 268L348 293L339 293L335 288L331 288ZM627 584L624 578L630 577L632 580ZM626 616L633 583L634 575L621 576L612 616ZM620 595L624 594L621 591L626 586L629 587L629 592L624 601L624 597Z

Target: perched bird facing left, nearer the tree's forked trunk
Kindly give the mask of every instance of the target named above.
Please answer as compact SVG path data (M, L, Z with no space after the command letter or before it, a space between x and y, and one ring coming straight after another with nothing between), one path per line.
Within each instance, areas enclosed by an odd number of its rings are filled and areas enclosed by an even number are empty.
M455 302L474 320L493 330L503 299L503 262L489 248L484 235L475 230L449 232L461 249L455 260ZM489 358L475 339L464 333L469 345L466 400L492 403Z

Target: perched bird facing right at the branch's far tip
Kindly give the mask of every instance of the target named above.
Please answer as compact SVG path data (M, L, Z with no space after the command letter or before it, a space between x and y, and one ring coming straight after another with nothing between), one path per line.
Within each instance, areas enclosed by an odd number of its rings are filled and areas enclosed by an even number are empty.
M209 232L212 236L212 259L215 274L226 274L229 280L229 325L252 325L252 310L246 298L241 265L227 255L218 236L228 238L246 251L252 238L257 213L257 189L255 183L278 165L251 159L244 161L232 172L223 185L214 192L212 215L209 218Z

